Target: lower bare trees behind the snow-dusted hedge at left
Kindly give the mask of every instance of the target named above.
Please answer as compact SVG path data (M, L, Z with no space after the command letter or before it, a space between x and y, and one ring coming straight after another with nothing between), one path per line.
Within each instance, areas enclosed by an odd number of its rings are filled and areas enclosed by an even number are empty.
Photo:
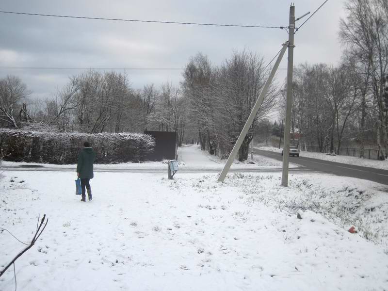
M158 90L153 84L133 90L126 73L86 71L45 100L27 99L30 92L16 76L0 80L2 127L59 132L142 132L178 130L182 113L178 88Z

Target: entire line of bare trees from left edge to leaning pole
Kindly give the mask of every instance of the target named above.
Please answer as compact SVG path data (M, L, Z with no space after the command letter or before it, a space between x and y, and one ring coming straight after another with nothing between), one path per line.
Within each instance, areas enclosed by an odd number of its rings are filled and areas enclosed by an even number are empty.
M179 146L195 138L203 150L227 155L267 78L263 68L263 59L248 50L233 52L219 66L198 53L186 65L179 86L148 84L134 90L126 73L88 70L46 100L28 99L26 85L7 76L0 80L0 123L49 132L175 131ZM258 116L275 106L277 95L271 88ZM252 130L240 160L247 158L251 139Z

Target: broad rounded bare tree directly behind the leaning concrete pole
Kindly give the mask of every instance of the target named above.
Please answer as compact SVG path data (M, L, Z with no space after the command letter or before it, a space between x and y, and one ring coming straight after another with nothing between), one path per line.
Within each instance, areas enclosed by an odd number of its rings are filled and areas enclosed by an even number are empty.
M259 97L267 78L263 72L263 59L248 50L234 51L217 74L215 86L217 96L217 129L222 133L223 147L228 153L237 140L248 116ZM249 143L253 138L253 129L258 117L264 118L273 108L279 91L271 86L257 113L257 117L246 135L239 150L239 160L248 158Z

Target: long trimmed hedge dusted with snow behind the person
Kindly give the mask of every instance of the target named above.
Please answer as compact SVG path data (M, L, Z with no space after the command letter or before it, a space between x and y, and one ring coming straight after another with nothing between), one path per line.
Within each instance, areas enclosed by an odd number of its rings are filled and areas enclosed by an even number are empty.
M97 152L96 163L140 162L153 150L154 139L141 133L53 133L0 129L0 154L5 161L71 164L83 142Z

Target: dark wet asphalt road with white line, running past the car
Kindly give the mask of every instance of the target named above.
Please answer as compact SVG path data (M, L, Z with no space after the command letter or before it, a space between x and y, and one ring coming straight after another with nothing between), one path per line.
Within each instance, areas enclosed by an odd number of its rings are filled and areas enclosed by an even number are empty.
M266 150L254 149L255 154L265 156L268 158L283 161L280 153L270 152ZM329 162L318 159L311 159L306 157L290 157L289 162L302 165L315 172L323 172L334 174L338 176L353 177L359 179L370 180L373 182L388 185L388 170L380 170L369 167L361 167L356 165L349 165L339 162Z

